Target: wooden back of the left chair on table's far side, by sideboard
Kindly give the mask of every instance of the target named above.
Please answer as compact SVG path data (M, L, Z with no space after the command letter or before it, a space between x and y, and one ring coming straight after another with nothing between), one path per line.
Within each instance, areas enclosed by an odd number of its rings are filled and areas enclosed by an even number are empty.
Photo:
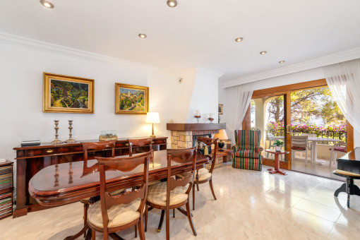
M112 150L112 157L115 157L115 143L116 140L104 141L104 142L90 142L90 143L82 143L83 145L83 176L99 171L99 165L94 164L92 167L88 167L88 151L102 151L106 149Z

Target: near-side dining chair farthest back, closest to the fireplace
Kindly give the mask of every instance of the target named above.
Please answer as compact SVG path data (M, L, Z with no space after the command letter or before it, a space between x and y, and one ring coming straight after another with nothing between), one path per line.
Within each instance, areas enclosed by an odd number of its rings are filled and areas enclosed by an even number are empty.
M214 147L214 152L212 152L212 154L211 154L211 150L210 150L209 151L210 154L208 155L208 157L209 157L208 163L211 164L210 169L207 169L204 166L203 168L196 170L195 181L193 184L193 210L195 210L195 185L199 191L199 184L205 184L206 182L209 182L212 196L214 196L214 198L216 200L214 188L212 188L212 171L214 170L214 167L215 167L218 138L205 138L205 137L198 136L197 140L198 140L198 151L200 150L199 143L204 143L206 147L211 146L211 145L215 145L215 147Z

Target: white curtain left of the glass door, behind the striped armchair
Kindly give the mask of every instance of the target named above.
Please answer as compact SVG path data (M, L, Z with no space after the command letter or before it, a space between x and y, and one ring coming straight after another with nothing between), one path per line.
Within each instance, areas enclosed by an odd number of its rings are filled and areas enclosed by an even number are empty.
M253 83L237 85L226 89L226 104L224 106L227 123L227 135L235 143L234 131L241 129L246 111L253 96Z

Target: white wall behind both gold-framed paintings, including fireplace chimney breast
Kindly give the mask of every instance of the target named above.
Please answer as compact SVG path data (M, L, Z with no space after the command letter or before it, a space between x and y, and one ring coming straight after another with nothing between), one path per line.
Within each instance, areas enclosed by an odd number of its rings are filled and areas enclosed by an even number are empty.
M151 125L145 124L145 114L114 114L115 83L149 87L150 112L160 114L161 123L154 124L156 136L170 137L166 124L170 119L186 122L190 105L204 113L217 112L217 78L198 77L197 71L185 75L179 83L181 75L176 73L150 73L96 59L0 43L0 72L0 158L8 160L16 157L13 148L23 140L54 140L54 120L60 120L60 140L68 138L69 119L73 120L76 140L98 139L101 130L116 130L119 138L150 136ZM95 79L95 114L42 112L43 72ZM210 96L210 100L205 96Z

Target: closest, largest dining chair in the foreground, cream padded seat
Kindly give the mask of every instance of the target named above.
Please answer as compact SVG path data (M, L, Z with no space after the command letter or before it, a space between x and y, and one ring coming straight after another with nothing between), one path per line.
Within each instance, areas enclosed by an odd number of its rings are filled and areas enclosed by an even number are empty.
M88 225L95 232L103 232L104 239L121 239L116 232L138 225L140 239L145 239L143 213L148 195L149 162L152 150L132 157L95 157L99 163L100 201L90 205ZM131 172L143 165L143 183L136 191L112 195L107 188L108 171Z

